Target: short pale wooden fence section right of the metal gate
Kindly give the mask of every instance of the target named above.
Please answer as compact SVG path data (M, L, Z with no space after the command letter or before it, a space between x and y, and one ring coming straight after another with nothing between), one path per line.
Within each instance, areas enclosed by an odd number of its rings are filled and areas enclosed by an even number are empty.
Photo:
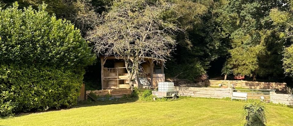
M286 104L293 105L293 95L292 94L270 94L270 101L275 104Z

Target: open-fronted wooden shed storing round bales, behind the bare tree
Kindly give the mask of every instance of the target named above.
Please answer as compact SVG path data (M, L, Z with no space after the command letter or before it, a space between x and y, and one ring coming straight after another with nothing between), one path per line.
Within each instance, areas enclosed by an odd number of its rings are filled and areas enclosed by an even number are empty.
M139 77L137 81L129 82L129 76L122 57L100 57L102 89L128 89L131 84L138 88L157 88L159 82L165 81L163 61L166 60L152 57L142 58L144 62L140 64L140 67L143 68L145 76ZM111 68L105 67L107 62L112 63Z

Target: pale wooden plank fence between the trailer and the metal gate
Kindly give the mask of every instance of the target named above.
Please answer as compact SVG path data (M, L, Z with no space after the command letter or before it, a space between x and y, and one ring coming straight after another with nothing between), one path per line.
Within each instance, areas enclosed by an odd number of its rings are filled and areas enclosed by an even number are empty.
M209 87L175 87L180 96L191 97L211 97L224 98L230 97L230 88L209 88Z

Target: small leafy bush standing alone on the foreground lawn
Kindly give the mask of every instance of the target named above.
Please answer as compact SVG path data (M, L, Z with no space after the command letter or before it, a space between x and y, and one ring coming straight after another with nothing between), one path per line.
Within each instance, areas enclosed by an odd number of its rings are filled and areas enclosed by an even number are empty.
M244 105L244 126L265 126L266 115L265 107L259 102Z

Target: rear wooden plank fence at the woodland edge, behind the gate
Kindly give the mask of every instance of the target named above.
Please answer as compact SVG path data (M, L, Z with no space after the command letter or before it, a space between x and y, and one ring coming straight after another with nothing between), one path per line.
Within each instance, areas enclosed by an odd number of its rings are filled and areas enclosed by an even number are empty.
M271 89L276 91L286 91L286 83L273 83L273 82L257 82L257 81L244 81L244 80L207 80L204 82L207 86L219 87L219 84L229 87L233 84L234 87L242 87L248 89Z

